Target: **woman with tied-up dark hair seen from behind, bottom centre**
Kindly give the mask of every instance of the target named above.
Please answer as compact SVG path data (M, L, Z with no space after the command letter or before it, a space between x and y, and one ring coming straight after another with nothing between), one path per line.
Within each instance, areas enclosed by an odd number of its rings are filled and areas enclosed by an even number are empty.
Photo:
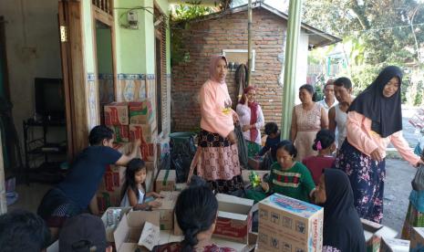
M184 239L181 242L153 247L152 251L235 251L233 248L212 244L212 233L218 215L218 201L212 190L199 177L191 177L191 185L178 196L174 211Z

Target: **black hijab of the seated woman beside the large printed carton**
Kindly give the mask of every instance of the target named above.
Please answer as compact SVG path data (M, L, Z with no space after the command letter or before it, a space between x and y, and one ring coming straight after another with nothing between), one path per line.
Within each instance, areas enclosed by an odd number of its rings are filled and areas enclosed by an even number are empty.
M326 169L326 203L324 204L324 246L342 252L365 252L364 229L354 206L352 187L346 173Z

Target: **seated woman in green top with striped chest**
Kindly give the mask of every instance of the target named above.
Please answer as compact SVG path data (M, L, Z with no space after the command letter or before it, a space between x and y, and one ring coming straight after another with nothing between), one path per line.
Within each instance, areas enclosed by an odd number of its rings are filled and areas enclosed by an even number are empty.
M295 145L289 141L280 142L276 150L277 162L271 165L267 182L261 183L264 192L248 190L247 197L261 201L267 195L277 193L309 202L315 192L315 183L306 166L295 161Z

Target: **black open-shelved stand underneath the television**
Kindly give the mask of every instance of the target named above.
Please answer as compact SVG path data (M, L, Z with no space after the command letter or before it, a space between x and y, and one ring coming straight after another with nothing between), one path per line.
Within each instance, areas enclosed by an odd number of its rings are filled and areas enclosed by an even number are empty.
M67 142L49 142L50 131L60 128L66 139L65 121L24 121L26 183L56 184L66 175ZM59 133L59 135L61 135Z

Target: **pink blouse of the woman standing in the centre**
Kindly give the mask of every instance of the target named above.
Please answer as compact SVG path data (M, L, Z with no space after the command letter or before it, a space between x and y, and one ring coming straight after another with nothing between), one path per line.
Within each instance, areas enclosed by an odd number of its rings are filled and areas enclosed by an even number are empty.
M226 84L211 79L206 81L200 92L201 128L227 137L234 130L232 100Z

